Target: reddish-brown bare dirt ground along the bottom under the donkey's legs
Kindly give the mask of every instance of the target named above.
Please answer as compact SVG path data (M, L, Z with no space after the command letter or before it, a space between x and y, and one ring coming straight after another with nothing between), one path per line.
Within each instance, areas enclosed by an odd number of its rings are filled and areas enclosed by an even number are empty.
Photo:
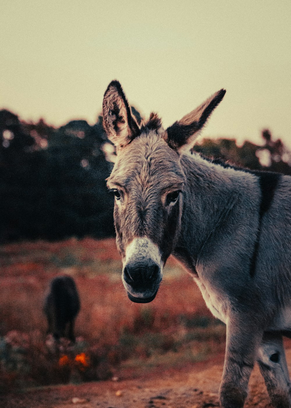
M287 350L289 371L291 349ZM184 370L154 373L138 379L100 381L78 386L35 388L0 397L5 408L206 408L218 404L223 356ZM271 408L256 366L245 407Z

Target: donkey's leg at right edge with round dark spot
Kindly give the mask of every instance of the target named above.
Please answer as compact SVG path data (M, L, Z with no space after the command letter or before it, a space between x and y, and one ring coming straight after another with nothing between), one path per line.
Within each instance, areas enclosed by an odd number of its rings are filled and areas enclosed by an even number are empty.
M280 334L264 333L258 364L273 406L291 407L290 378Z

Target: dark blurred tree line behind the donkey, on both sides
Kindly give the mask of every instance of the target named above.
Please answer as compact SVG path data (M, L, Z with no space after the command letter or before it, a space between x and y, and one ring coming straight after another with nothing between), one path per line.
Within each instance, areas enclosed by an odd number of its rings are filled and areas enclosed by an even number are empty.
M55 128L3 109L0 137L0 242L114 235L114 201L105 181L113 147L101 116L93 126L73 120ZM262 146L220 138L204 139L194 150L249 169L291 174L289 151L268 130Z

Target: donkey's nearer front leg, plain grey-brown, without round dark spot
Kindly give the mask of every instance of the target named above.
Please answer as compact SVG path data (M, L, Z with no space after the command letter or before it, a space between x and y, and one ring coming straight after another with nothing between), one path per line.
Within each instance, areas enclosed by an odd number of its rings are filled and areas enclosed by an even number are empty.
M262 341L262 330L251 322L251 314L229 317L219 398L223 408L242 408L247 386Z

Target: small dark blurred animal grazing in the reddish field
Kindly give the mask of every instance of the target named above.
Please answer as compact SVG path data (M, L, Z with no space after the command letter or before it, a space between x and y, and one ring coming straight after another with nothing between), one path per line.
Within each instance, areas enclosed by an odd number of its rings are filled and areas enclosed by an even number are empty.
M55 277L44 302L48 333L52 333L55 339L68 337L75 341L74 323L79 310L80 301L74 279L66 275Z

